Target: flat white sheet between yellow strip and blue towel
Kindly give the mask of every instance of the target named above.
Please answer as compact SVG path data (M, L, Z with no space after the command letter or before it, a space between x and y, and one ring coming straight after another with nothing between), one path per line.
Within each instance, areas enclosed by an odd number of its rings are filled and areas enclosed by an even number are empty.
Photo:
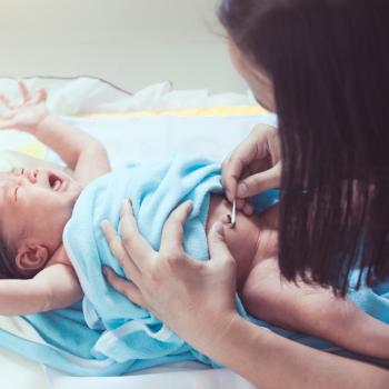
M166 161L177 153L222 161L259 122L258 117L63 119L99 139L113 167ZM272 117L261 121L271 123Z

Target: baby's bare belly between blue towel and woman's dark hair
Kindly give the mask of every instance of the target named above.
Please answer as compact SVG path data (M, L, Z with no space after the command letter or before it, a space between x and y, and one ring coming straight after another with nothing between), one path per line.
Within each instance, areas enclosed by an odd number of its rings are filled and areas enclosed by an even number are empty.
M211 194L207 220L207 233L216 221L226 220L231 215L231 203L220 194ZM251 262L257 252L259 239L259 218L237 211L235 228L225 229L226 242L238 265L238 288L250 271Z

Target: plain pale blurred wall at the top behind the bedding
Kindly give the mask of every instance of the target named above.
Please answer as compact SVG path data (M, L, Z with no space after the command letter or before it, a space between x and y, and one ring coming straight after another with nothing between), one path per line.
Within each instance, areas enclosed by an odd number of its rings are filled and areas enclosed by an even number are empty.
M218 0L0 0L0 77L102 78L134 92L241 92Z

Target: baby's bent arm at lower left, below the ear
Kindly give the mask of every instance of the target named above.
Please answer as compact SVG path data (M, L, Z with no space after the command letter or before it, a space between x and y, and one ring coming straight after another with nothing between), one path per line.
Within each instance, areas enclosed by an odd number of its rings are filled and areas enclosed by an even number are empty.
M74 270L56 263L29 280L0 280L0 315L32 315L66 308L81 297Z

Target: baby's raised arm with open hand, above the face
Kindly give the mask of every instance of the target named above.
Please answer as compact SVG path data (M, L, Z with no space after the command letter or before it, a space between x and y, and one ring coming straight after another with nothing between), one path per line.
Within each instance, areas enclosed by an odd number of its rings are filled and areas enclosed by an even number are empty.
M0 96L0 101L9 110L1 114L0 128L12 128L37 137L62 158L81 184L110 171L107 151L97 139L49 114L43 89L31 97L23 82L19 82L19 88L23 98L20 106L13 106L7 97Z

